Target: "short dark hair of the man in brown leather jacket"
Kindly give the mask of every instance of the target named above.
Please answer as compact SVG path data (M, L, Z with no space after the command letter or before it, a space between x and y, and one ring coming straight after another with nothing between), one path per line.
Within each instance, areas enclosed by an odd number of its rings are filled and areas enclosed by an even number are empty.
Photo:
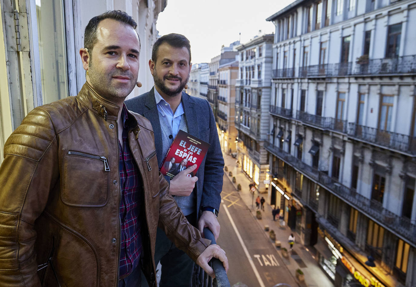
M112 10L102 13L101 15L92 17L89 20L87 27L85 27L84 32L84 47L88 49L89 53L91 54L92 48L94 47L95 43L97 43L97 27L99 22L104 19L113 19L123 23L125 25L130 25L133 29L136 29L137 23L134 21L133 17L121 10ZM137 34L139 37L139 34ZM139 37L139 45L140 37Z

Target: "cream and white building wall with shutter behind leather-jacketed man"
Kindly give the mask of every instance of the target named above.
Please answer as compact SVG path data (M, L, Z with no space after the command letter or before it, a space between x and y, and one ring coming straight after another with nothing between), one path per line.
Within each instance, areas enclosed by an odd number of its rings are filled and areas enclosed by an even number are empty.
M151 89L148 61L158 37L156 20L166 4L167 0L0 0L4 40L0 46L0 153L34 107L76 95L81 89L85 71L79 49L84 47L84 29L92 17L106 10L126 11L138 24L143 87L136 87L130 96Z

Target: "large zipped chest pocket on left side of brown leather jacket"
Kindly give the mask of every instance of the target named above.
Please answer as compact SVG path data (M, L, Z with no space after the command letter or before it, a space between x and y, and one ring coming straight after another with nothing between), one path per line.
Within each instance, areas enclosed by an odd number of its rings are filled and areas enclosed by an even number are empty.
M109 158L65 151L61 165L61 200L74 207L102 207L109 197Z

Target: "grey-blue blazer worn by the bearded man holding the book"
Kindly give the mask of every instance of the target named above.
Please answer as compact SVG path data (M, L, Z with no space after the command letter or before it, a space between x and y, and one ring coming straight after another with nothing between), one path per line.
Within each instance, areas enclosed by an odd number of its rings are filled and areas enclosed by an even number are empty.
M185 112L188 133L210 143L206 158L202 161L196 173L198 181L193 190L197 195L199 218L199 210L201 210L202 206L210 206L216 210L220 209L224 158L221 152L214 114L208 101L182 92L181 102ZM155 136L156 157L158 166L160 166L165 155L162 154L162 145L160 144L162 142L162 131L154 88L145 94L125 101L125 103L129 110L141 114L151 122Z

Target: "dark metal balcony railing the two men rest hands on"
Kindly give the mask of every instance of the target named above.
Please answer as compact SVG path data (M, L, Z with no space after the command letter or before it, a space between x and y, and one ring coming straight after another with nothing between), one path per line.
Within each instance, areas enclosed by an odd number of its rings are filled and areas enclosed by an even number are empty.
M211 240L211 244L215 244L215 237L211 230L204 228L204 236ZM212 279L201 267L195 265L192 276L192 287L230 287L230 281L225 272L223 262L217 258L213 258L210 260L209 265L215 272L215 278Z

